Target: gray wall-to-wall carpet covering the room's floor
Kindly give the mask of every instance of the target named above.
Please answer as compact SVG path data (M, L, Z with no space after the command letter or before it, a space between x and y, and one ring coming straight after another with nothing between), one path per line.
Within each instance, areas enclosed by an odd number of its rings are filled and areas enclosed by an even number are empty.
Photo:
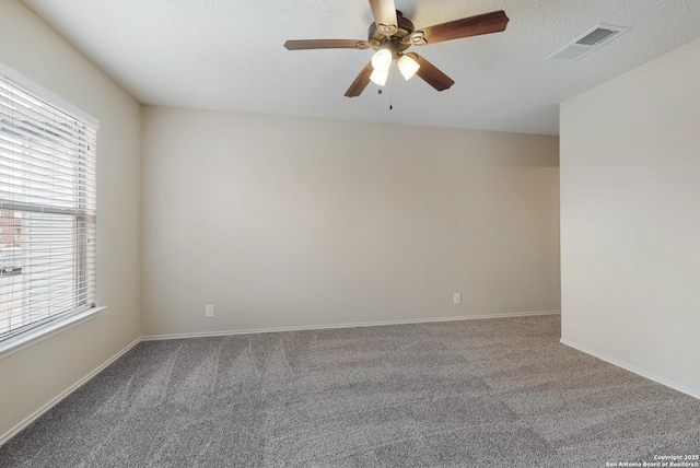
M605 467L700 453L700 400L558 316L142 342L2 467ZM5 401L4 405L8 402Z

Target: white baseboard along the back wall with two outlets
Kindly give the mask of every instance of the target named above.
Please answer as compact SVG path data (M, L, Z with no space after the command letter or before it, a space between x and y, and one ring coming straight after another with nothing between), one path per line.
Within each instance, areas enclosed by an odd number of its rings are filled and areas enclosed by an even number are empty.
M515 312L511 314L464 315L458 317L406 318L402 320L360 321L351 324L303 325L299 327L249 328L243 330L202 331L197 334L150 335L141 337L143 341L173 340L179 338L225 337L230 335L276 334L280 331L324 330L329 328L381 327L384 325L430 324L434 321L478 320L485 318L527 317L532 315L559 315L560 311Z

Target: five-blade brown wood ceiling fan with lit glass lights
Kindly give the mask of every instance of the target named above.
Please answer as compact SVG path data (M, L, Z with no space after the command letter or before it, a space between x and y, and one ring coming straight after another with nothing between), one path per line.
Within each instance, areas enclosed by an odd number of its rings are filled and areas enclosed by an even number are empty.
M397 61L398 69L406 80L418 74L435 90L444 91L454 84L454 80L418 54L405 50L410 46L425 46L462 37L499 33L505 31L509 22L505 12L499 10L416 30L413 23L396 10L394 0L370 0L370 8L374 15L374 23L370 25L368 40L288 40L284 47L288 50L374 49L372 60L346 91L348 97L362 94L370 81L383 86L394 60Z

